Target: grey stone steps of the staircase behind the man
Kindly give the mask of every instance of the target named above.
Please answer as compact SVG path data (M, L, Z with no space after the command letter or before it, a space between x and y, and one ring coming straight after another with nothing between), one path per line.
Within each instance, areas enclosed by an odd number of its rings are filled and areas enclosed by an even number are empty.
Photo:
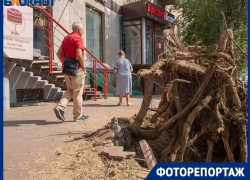
M10 88L13 89L13 92L16 88L43 88L44 101L60 99L67 88L65 87L64 74L62 74L59 63L56 61L53 62L53 74L49 74L49 60L46 58L34 59L33 61L11 61L11 67L8 70L12 73L10 79L12 79L13 83L10 84ZM20 81L20 79L22 80ZM85 87L85 97L94 97L94 88L91 88L90 85L86 85ZM100 99L102 97L103 95L98 91L97 98ZM15 99L15 97L13 98Z

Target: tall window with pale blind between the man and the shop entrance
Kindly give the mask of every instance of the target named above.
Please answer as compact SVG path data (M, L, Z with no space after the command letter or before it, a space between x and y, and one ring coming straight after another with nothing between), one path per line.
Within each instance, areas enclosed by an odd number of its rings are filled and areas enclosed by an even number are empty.
M86 47L100 61L102 61L101 19L101 13L86 7Z

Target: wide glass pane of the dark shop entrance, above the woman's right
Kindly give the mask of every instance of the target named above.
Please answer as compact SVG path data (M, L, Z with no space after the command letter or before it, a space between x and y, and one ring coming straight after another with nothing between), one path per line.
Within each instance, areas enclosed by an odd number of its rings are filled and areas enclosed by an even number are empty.
M141 25L135 25L138 22L123 22L123 49L132 64L141 64Z

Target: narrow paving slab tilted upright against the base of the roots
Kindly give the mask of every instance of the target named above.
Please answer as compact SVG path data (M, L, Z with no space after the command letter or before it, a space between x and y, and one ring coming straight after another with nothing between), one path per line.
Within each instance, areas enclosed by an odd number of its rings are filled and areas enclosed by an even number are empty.
M144 154L144 157L146 159L148 169L149 170L153 169L153 167L156 165L157 161L156 161L156 158L154 156L154 153L153 153L151 147L148 145L146 140L141 140L140 146L141 146L142 152Z

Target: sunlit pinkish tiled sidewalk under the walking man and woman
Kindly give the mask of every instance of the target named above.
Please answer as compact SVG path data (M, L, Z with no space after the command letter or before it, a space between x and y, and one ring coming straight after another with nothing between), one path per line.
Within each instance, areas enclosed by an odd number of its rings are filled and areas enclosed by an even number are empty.
M4 112L4 179L28 177L29 167L39 154L64 146L84 132L95 131L106 125L112 117L132 116L141 107L142 96L132 96L133 106L116 106L117 97L83 102L83 113L89 115L86 122L73 122L73 103L65 110L66 122L55 117L55 103L42 106L15 107ZM160 96L153 96L154 103ZM34 168L34 167L33 167ZM42 168L42 165L37 168Z

